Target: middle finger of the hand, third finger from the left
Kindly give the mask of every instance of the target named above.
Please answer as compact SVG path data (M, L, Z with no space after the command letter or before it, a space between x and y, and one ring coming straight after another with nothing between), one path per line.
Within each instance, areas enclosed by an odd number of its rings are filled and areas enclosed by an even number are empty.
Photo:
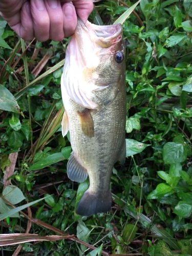
M60 41L64 37L63 13L60 1L46 0L45 5L50 20L50 38L54 41Z

